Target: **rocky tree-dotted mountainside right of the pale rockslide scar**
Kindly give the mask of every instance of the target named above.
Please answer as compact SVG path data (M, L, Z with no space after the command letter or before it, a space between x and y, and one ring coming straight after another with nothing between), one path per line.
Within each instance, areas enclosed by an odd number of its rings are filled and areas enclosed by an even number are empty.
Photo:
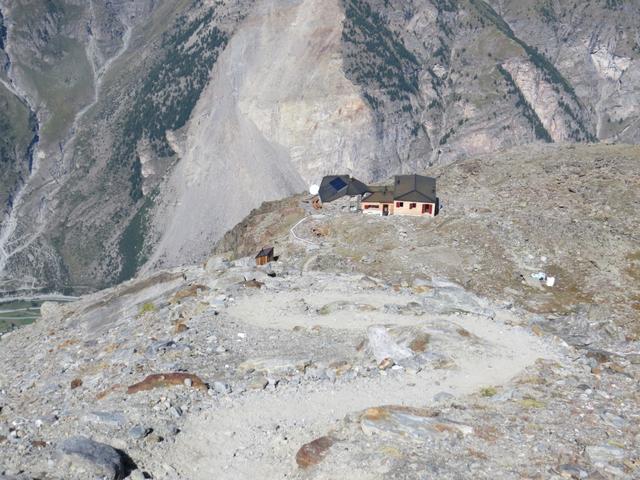
M345 0L345 68L376 112L387 157L415 167L518 143L611 137L603 114L629 94L614 82L637 67L590 44L611 44L600 19L637 18L638 7L492 3ZM636 27L625 27L633 36Z

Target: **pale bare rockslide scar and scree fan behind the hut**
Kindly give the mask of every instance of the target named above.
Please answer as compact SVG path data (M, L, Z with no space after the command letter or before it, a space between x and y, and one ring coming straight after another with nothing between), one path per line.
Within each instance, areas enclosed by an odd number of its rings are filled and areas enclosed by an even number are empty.
M186 128L150 266L200 258L252 207L325 173L380 173L371 112L342 70L343 17L337 0L256 3Z

